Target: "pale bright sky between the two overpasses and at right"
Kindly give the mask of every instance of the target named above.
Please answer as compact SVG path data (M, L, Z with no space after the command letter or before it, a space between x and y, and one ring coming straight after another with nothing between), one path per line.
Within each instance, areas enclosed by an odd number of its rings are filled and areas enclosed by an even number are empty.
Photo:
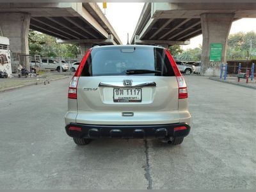
M98 3L102 8L102 3ZM129 42L136 28L138 19L144 3L108 3L106 17L115 29L123 44L127 44L127 33ZM103 8L102 8L103 11ZM104 11L103 11L104 12ZM239 31L256 31L256 19L240 19L233 22L230 34ZM182 49L195 48L202 44L202 35L191 38L189 45L182 45Z

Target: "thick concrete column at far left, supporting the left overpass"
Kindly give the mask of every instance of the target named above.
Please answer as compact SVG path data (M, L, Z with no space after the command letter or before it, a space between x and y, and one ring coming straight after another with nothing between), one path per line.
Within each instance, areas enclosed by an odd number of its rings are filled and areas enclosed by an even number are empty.
M3 36L10 39L10 50L15 54L29 54L28 31L29 13L0 13ZM28 57L20 56L20 64L30 69Z

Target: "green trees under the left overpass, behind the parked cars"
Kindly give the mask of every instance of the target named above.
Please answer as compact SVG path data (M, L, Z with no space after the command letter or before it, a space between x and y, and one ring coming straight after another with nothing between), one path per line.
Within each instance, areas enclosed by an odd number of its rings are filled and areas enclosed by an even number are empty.
M81 53L77 44L58 44L54 37L29 29L29 54L53 58L76 58Z

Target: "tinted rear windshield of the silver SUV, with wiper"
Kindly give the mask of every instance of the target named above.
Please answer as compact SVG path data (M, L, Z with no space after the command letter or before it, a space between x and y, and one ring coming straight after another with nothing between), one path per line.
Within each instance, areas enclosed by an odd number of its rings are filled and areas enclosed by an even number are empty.
M175 76L164 49L156 47L100 47L93 49L81 76L125 76L127 70L157 70L136 76Z

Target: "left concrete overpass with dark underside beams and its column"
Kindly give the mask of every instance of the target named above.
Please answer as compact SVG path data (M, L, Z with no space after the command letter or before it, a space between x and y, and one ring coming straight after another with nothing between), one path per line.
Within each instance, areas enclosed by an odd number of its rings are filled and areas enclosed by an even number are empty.
M122 44L97 3L0 3L0 27L18 54L29 54L29 28L79 43L82 54L92 45Z

